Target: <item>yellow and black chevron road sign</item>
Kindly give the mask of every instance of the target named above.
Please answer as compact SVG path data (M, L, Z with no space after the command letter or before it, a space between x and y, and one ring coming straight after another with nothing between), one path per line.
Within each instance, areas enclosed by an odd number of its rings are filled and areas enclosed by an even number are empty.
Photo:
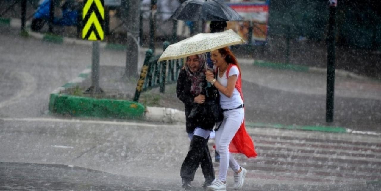
M104 0L85 0L82 39L103 40Z

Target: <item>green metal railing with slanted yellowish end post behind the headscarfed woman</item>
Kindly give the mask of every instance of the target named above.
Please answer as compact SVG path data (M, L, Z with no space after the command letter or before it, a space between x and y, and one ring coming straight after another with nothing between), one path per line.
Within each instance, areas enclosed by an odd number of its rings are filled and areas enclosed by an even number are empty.
M169 42L163 43L163 50L169 46ZM138 84L134 95L134 101L139 101L140 94L152 88L160 88L160 93L165 92L165 85L177 82L179 70L183 66L183 60L160 61L161 55L154 56L151 49L146 51L146 58L140 72Z

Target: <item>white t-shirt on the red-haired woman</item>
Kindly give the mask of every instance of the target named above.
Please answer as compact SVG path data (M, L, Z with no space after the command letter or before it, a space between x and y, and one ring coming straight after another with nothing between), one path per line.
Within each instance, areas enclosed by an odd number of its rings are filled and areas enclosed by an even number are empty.
M237 78L239 77L239 70L237 66L232 66L229 70L229 77L232 75L237 75ZM217 72L217 81L221 83L224 87L227 87L227 77L226 77L226 72L224 72L224 75L222 77L219 77L218 72ZM219 91L220 95L220 104L222 109L234 109L243 104L241 95L237 88L234 88L233 90L233 95L228 98L226 95L221 93Z

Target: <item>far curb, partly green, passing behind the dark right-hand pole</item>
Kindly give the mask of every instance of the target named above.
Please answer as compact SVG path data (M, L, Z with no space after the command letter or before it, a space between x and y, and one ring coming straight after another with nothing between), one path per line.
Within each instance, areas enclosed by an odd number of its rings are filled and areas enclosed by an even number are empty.
M296 65L296 64L271 63L271 62L266 62L266 61L261 61L261 60L255 60L253 64L255 66L270 67L270 68L274 68L274 69L327 74L326 68L319 68L319 67L300 66L300 65ZM340 69L335 69L335 74L342 76L342 77L351 77L351 78L359 79L359 80L369 79L367 77L357 75L353 72L348 72L348 71L344 71L344 70L340 70Z

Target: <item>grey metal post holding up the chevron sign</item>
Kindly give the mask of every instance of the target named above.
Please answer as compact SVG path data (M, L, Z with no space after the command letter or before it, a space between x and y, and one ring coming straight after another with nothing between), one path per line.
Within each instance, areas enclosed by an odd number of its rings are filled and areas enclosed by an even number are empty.
M99 87L99 41L93 42L93 55L91 57L91 87L85 93L96 94L103 93Z

